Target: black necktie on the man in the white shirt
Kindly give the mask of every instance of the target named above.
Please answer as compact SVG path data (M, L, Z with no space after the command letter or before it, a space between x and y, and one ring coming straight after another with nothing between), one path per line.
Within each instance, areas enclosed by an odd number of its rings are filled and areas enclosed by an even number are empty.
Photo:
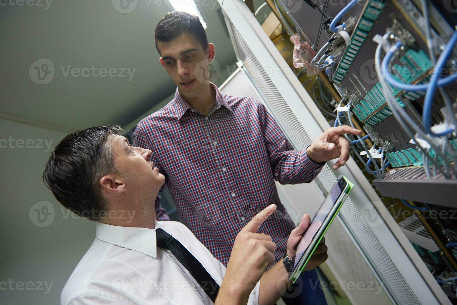
M157 246L168 249L176 259L181 262L184 268L191 273L203 291L209 296L213 303L219 292L219 285L211 275L203 268L202 264L189 252L179 241L162 229L156 229Z

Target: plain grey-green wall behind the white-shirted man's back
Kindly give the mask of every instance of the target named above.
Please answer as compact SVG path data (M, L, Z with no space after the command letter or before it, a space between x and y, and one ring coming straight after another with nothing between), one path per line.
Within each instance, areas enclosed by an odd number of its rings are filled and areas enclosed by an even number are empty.
M0 130L0 304L59 304L64 284L95 237L95 223L73 219L43 184L44 165L67 134L4 119ZM48 218L34 206L42 201L48 202Z

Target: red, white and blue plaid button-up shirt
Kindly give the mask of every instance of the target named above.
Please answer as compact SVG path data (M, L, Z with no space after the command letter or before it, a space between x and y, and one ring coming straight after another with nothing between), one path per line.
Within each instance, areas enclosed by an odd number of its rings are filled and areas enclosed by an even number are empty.
M216 104L207 116L191 108L176 89L171 102L138 123L133 143L152 150L151 161L165 175L181 221L225 265L238 232L275 203L276 212L258 232L271 235L277 261L295 225L274 180L311 182L323 164L309 159L306 150L293 150L263 104L211 86ZM158 220L170 219L160 196L155 208Z

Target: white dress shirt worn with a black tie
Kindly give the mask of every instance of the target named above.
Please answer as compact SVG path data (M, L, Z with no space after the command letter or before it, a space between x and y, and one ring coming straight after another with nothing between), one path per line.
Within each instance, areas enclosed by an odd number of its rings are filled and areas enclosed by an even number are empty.
M155 222L154 230L96 224L96 238L61 294L61 304L213 304L191 274L156 246L155 229L181 242L220 286L225 266L195 235L175 221ZM258 304L260 281L248 304Z

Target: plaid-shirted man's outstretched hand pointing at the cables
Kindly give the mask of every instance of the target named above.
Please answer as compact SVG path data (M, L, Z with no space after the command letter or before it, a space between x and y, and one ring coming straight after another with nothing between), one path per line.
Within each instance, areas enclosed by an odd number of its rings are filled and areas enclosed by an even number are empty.
M344 134L361 135L362 132L348 125L329 128L308 146L306 154L316 163L339 158L333 165L334 170L339 169L349 160L350 146Z

